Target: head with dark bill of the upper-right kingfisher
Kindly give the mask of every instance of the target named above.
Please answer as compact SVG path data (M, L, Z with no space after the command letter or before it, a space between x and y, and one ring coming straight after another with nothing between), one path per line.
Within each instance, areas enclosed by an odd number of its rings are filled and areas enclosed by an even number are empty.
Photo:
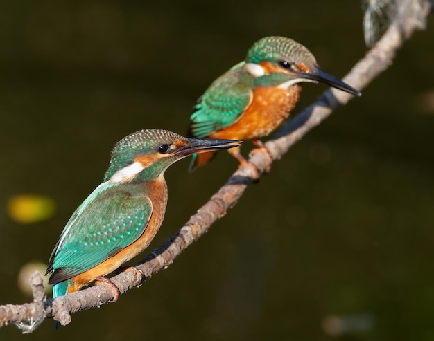
M322 82L352 95L361 95L337 77L322 71L305 46L285 37L265 37L253 44L244 68L262 85L284 89L300 82Z

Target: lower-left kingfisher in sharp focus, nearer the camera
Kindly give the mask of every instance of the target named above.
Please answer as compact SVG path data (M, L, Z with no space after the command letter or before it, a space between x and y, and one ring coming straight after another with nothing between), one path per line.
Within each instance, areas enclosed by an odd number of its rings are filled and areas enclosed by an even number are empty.
M53 297L80 290L142 252L162 224L167 167L194 153L238 147L236 140L198 140L159 129L137 131L112 150L103 183L72 214L49 259ZM137 269L136 269L137 270Z

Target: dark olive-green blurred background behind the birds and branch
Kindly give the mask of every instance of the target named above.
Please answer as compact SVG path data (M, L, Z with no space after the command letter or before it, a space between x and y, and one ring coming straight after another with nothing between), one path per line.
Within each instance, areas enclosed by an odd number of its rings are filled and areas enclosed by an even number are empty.
M362 16L358 1L342 0L3 3L0 304L31 300L17 289L19 268L48 260L123 136L184 133L196 98L266 35L302 42L342 77L365 54ZM27 336L0 329L0 339L433 340L429 24L167 270L57 333L47 320ZM306 84L296 111L325 89ZM194 174L188 162L166 173L166 220L151 248L236 169L227 153ZM6 201L25 192L52 196L58 213L14 223ZM333 337L322 326L331 316L370 323Z

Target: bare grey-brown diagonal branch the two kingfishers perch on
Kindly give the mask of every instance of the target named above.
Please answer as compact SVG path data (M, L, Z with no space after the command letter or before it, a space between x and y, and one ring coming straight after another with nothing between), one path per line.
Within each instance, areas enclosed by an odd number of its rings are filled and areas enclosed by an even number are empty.
M414 0L408 0L406 6L409 7L413 3ZM431 1L419 1L419 3L422 4L422 12L414 10L399 12L378 44L343 79L345 82L360 91L392 64L397 50L414 30L420 27L421 18L424 20L431 9ZM347 104L351 98L353 98L351 95L343 91L335 89L325 91L317 102L281 127L275 138L266 142L272 160L279 160L290 146L313 127L319 125L333 110ZM269 166L268 158L263 152L253 154L249 161L259 169L261 174ZM235 205L243 195L245 188L252 183L251 178L254 176L252 173L249 167L238 169L227 183L211 196L211 199L196 214L191 216L184 227L162 246L150 252L150 255L137 266L144 274L143 276L132 271L125 271L112 277L112 282L116 284L119 291L125 293L131 288L140 286L159 270L172 264L182 251L197 241L202 234L207 232L212 223L225 216L227 210ZM32 275L30 284L33 290L33 303L0 306L0 327L16 324L23 330L23 333L31 333L45 318L50 317L65 325L71 322L71 313L101 306L114 298L110 288L96 285L56 299L46 299L42 277L39 273Z

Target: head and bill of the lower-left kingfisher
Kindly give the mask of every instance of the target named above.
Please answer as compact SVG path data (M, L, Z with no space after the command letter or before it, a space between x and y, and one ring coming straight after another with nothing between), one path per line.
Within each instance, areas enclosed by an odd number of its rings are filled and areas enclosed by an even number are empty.
M116 143L104 181L153 180L172 163L195 153L241 145L236 140L198 140L162 129L136 131ZM141 175L141 176L140 176Z

